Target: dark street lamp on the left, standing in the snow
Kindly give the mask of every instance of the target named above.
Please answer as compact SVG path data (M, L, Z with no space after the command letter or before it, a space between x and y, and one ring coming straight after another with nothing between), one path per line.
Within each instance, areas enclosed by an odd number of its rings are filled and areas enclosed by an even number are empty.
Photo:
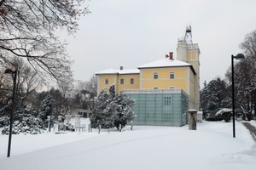
M13 96L12 96L12 110L10 113L9 118L9 142L8 142L8 151L7 151L7 157L10 156L10 149L11 149L11 143L12 143L12 133L13 133L13 120L14 120L14 110L15 110L15 91L16 91L16 79L17 79L17 71L13 71L11 69L7 69L4 71L5 74L11 74L14 81L14 87L13 87Z

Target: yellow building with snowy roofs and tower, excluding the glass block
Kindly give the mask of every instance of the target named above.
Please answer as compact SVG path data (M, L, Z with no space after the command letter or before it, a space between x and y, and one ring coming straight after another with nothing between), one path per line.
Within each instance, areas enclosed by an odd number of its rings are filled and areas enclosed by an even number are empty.
M177 42L177 59L172 53L166 58L145 65L136 70L107 70L96 73L98 94L115 85L117 93L124 90L181 89L189 98L189 109L199 110L200 49L198 44L184 38Z

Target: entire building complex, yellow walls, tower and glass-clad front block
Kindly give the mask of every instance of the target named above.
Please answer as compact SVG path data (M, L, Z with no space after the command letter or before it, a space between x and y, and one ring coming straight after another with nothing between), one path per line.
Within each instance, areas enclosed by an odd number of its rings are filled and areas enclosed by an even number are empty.
M117 93L136 99L135 124L182 126L189 109L199 110L200 49L192 42L191 27L177 42L177 59L166 58L138 66L135 70L96 73L98 94L115 85ZM189 38L190 37L190 38Z

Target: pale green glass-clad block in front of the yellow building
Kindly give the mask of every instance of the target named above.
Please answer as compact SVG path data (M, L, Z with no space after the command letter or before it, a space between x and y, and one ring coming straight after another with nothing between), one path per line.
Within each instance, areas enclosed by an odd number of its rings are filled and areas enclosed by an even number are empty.
M180 127L187 124L188 95L182 89L124 90L123 94L136 100L136 125Z

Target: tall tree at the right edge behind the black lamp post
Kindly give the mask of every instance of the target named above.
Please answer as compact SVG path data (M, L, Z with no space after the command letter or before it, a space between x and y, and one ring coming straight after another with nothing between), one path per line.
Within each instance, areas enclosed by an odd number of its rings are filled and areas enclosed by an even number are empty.
M251 120L256 111L256 30L248 33L240 44L246 59L235 65L236 106L243 112L243 119ZM231 69L225 75L231 86ZM255 115L255 114L254 114Z

